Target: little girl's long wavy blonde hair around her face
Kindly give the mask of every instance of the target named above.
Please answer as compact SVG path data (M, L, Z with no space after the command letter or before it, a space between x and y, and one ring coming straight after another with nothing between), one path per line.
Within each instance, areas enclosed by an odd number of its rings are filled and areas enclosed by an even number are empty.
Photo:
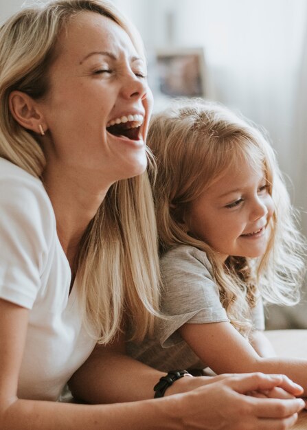
M251 308L258 295L266 302L292 305L299 299L304 240L295 226L295 211L268 140L250 122L220 104L176 100L152 118L148 146L157 159L152 179L159 245L192 245L207 253L231 323L244 335L251 330ZM245 159L264 169L275 212L264 256L229 256L225 264L214 250L185 231L189 205L229 168Z

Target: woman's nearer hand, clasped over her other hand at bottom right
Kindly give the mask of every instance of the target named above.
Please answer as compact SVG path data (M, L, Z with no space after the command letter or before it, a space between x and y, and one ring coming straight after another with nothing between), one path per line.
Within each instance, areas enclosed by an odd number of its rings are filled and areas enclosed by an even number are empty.
M299 398L255 398L246 395L250 392L270 392L275 387L297 392L297 387L281 375L225 375L213 377L211 381L181 396L179 411L183 428L290 429L304 407L304 400Z

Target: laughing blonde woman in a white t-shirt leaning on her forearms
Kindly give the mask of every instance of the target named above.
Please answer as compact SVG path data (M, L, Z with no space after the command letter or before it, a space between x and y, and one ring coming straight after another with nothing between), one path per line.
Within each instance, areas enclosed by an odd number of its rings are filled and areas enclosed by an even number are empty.
M293 425L284 376L182 377L166 396L186 394L152 399L163 374L124 354L120 327L142 339L159 302L152 100L126 20L95 0L23 10L1 28L0 94L1 429ZM116 404L52 401L67 381ZM290 398L242 395L256 389Z

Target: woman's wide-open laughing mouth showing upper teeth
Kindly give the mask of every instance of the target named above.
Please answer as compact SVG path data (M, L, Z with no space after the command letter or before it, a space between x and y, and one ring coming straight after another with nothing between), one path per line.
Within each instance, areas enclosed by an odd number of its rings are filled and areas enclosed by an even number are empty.
M115 120L111 120L106 124L106 131L114 136L126 137L130 140L141 139L141 124L144 122L142 115L125 115Z

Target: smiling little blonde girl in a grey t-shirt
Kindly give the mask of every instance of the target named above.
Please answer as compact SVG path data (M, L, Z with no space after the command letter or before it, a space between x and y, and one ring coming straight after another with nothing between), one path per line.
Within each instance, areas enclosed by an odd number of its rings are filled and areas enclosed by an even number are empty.
M249 122L201 100L156 115L148 146L167 319L159 343L130 343L130 354L160 370L282 372L307 389L307 360L274 358L262 335L262 299L297 303L304 271L273 149Z

